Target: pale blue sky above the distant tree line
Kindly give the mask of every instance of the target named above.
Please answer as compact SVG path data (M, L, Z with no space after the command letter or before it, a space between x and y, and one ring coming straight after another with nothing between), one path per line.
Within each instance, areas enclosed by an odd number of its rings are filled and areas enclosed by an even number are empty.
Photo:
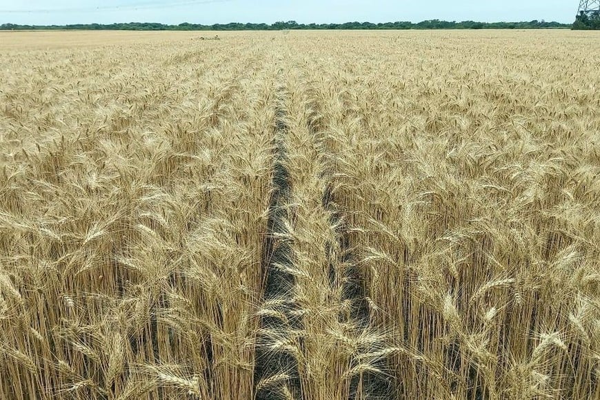
M571 23L577 0L0 0L0 24L341 23L426 19Z

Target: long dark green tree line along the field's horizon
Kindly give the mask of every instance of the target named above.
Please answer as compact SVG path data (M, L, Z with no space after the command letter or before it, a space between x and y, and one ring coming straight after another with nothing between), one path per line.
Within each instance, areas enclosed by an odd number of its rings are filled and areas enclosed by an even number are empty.
M570 23L525 21L525 22L476 22L476 21L440 21L430 19L412 23L410 21L397 21L386 23L371 22L346 22L346 23L297 23L296 21L279 21L268 23L215 23L201 25L199 23L180 23L179 25L166 25L163 23L77 23L74 25L17 25L3 23L0 30L290 30L290 29L540 29L540 28L571 28Z

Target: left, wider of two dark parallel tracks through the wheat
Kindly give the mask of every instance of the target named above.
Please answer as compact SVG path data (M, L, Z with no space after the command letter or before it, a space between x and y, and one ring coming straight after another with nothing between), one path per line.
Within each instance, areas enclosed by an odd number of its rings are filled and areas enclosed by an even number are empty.
M283 70L279 70L281 77ZM263 304L257 334L254 389L257 400L301 399L301 383L294 346L301 319L294 313L294 263L290 232L291 180L288 171L286 138L286 88L277 88L275 110L272 194L268 209L267 234L263 242L261 268L265 277Z

